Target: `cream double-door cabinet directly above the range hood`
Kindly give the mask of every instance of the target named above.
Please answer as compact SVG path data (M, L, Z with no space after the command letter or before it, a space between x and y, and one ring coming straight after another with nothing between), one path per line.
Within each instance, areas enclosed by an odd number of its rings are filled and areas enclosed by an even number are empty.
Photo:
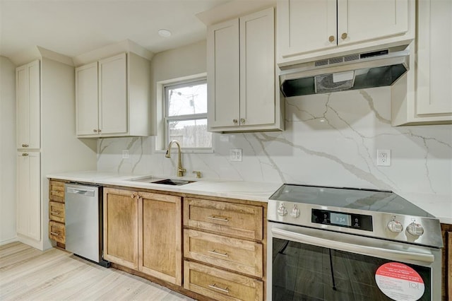
M415 37L413 0L280 0L276 19L279 66Z

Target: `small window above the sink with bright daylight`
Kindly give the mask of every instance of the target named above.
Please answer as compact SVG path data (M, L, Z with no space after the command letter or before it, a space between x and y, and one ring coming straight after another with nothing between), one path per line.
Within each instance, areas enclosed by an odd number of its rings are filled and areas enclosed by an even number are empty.
M164 95L165 145L177 140L185 150L210 150L212 133L207 131L206 78L166 84Z

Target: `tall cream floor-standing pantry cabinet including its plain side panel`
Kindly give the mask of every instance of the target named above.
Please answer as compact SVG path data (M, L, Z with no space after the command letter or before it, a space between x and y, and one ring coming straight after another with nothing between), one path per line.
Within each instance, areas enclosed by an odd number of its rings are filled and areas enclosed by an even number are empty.
M20 242L44 250L52 247L46 175L95 169L96 141L76 138L71 59L35 47L13 61L22 61L16 69L16 230Z

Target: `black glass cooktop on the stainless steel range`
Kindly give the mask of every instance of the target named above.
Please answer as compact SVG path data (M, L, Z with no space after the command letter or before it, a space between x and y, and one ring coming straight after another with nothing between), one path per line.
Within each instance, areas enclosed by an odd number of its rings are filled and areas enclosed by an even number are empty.
M392 191L284 184L270 200L434 218Z

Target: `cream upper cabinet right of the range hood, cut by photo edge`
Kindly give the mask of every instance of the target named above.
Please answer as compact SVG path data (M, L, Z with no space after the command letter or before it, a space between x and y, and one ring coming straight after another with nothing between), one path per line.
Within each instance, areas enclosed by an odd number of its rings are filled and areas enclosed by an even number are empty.
M408 73L392 87L392 124L452 123L452 1L418 2Z

